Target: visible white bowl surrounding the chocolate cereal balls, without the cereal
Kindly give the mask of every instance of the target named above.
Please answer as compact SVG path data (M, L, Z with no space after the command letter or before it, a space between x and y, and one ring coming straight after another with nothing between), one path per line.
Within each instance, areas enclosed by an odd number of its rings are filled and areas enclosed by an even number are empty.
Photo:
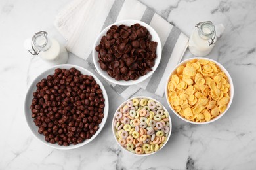
M102 122L99 125L99 129L98 129L98 131L96 131L95 135L93 135L93 137L91 137L91 139L87 139L87 140L83 141L83 143L79 143L77 145L70 144L70 146L60 146L57 143L56 144L47 143L45 141L45 136L43 134L41 135L41 134L38 133L38 128L39 127L35 126L35 123L33 122L33 118L31 116L32 112L30 110L30 105L31 105L32 99L33 99L33 92L35 92L35 90L37 89L37 87L36 87L37 82L41 81L41 79L43 79L43 78L46 78L47 75L53 75L55 69L57 69L57 68L70 69L72 67L75 67L75 69L81 71L81 73L84 74L84 75L93 76L95 78L97 84L100 85L100 88L102 89L102 93L103 93L104 98L105 98L104 118L102 119ZM83 67L79 67L79 66L76 66L76 65L70 65L70 64L56 65L54 67L51 67L50 69L47 69L43 73L41 73L41 75L37 76L37 78L35 78L35 80L33 80L32 84L30 84L30 86L28 88L28 91L26 93L25 104L24 104L24 112L25 112L25 117L26 117L26 122L28 124L28 127L32 131L33 135L39 141L46 144L47 146L50 146L51 148L56 148L56 149L60 149L60 150L70 150L70 149L74 149L74 148L79 148L79 147L93 141L93 139L95 139L95 137L103 129L104 124L106 123L106 120L108 118L108 95L106 93L106 90L105 90L103 84L100 82L100 80L95 75L93 75L93 73L88 71L87 69L84 69Z

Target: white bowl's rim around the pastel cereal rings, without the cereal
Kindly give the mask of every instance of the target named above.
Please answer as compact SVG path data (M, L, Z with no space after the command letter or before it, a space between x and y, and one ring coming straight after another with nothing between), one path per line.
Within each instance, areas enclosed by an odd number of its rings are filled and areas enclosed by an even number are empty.
M149 99L149 100L153 100L153 101L155 101L156 103L160 103L160 102L157 101L156 99L152 99L152 98L150 98L150 97L145 97L145 96L132 97L132 98L130 98L130 99L127 99L127 101L133 100L133 99L142 99L142 98L144 98L144 99ZM117 108L116 112L118 112L122 107L124 107L124 106L126 105L127 101L124 101L124 102ZM161 105L163 105L163 104L161 104ZM164 107L164 105L163 105L163 110L165 110L166 112L168 112L168 110ZM133 152L130 152L130 151L127 150L125 147L121 146L121 144L118 142L118 139L117 139L117 137L116 137L116 128L115 128L115 126L114 126L114 121L115 121L116 112L115 112L114 117L113 117L113 120L112 120L112 133L113 133L113 135L114 135L114 138L115 138L115 140L116 140L116 143L117 143L123 150L125 150L126 152L129 152L130 154L133 154L133 155L136 155L136 156L148 156L148 155L152 155L152 154L155 154L156 152L159 152L161 149L163 149L163 147L165 146L165 144L169 141L169 138L171 137L171 129L172 129L172 127L171 127L171 126L172 126L172 123L171 123L171 116L170 116L170 115L169 115L169 124L170 124L170 125L169 125L169 128L170 128L169 135L167 136L167 141L163 144L163 146L162 146L158 151L152 152L152 153L150 153L150 154L135 154L135 153L133 153ZM169 114L169 112L168 112L168 114Z

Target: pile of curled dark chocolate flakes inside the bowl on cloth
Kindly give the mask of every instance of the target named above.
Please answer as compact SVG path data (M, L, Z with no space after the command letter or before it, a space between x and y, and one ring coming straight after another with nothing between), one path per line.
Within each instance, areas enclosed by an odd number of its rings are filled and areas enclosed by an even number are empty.
M112 25L95 47L98 63L115 80L137 80L152 71L158 42L140 24Z

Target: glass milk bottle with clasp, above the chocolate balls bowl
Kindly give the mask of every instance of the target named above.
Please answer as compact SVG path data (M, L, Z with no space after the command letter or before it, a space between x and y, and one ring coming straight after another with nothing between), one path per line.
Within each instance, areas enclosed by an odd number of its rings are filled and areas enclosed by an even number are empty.
M45 31L35 33L31 45L32 50L28 51L33 55L39 55L47 63L58 65L68 61L66 48L55 39L47 37Z

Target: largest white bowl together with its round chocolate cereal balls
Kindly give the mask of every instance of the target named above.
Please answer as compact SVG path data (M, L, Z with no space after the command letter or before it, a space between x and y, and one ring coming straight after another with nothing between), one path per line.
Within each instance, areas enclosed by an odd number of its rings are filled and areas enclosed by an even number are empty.
M100 80L76 65L56 65L30 84L24 103L28 127L52 148L79 148L95 139L108 117Z

